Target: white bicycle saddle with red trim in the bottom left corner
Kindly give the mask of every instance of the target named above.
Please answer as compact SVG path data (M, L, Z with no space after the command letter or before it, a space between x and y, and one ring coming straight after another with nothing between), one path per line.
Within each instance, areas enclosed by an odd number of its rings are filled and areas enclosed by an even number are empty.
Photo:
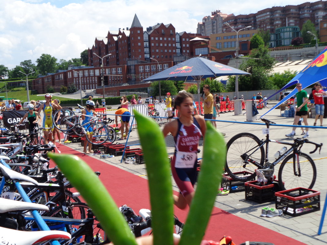
M2 241L5 244L31 245L53 239L71 239L72 236L64 231L17 231L0 227Z

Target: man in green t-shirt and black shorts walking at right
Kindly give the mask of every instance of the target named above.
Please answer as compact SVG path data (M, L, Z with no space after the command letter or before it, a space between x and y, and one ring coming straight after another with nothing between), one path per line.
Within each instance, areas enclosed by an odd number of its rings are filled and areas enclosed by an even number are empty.
M298 92L295 94L296 96L296 113L294 117L294 123L293 125L297 125L300 118L303 118L304 125L308 126L308 94L305 90L302 90L302 84L298 83L296 85L296 88L298 89ZM295 129L296 127L293 127L292 133L286 134L287 137L294 137L295 136ZM303 135L302 138L308 138L309 137L309 128L305 128L305 135Z

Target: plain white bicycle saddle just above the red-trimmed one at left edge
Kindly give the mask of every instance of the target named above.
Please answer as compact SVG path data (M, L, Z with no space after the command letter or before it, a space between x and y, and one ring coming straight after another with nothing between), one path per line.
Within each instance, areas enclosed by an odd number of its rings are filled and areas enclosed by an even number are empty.
M49 211L49 208L43 204L27 203L27 202L14 201L6 198L0 198L0 213L7 213L17 210Z

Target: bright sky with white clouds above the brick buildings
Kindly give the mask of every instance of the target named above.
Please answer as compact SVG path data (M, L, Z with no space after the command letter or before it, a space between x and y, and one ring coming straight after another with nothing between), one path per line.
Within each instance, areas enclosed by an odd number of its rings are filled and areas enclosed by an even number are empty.
M235 15L272 6L298 5L304 0L0 0L0 64L9 69L21 61L35 63L43 53L58 59L80 57L106 37L108 30L130 27L134 14L144 30L157 23L173 24L177 32L196 32L211 11Z

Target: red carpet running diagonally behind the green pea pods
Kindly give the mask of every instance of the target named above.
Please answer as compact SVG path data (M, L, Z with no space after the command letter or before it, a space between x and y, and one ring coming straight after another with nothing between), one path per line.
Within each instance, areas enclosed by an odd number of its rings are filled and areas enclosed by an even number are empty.
M126 204L136 214L138 214L141 208L151 209L146 179L106 164L93 157L78 153L65 145L60 145L58 148L62 154L75 154L82 157L94 171L101 172L100 179L107 187L117 206ZM174 212L181 221L185 221L187 210L175 208ZM219 241L224 235L231 236L235 244L249 240L272 242L275 245L304 244L214 207L204 238Z

